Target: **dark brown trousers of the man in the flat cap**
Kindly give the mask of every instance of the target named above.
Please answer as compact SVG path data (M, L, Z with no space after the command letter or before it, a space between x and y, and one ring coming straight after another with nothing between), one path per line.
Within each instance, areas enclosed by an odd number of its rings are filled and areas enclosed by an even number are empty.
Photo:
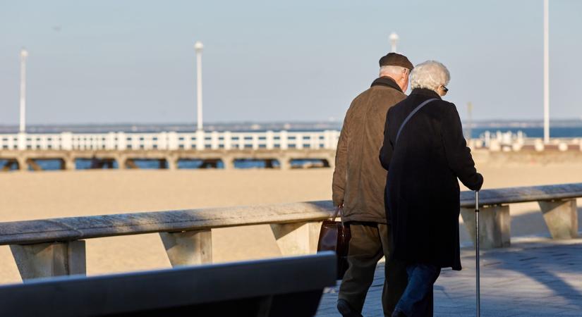
M348 251L348 271L339 287L338 299L344 299L352 309L361 313L366 294L374 280L376 265L386 256L382 308L384 315L392 315L396 303L406 289L406 266L389 261L392 232L382 223L350 222L351 240Z

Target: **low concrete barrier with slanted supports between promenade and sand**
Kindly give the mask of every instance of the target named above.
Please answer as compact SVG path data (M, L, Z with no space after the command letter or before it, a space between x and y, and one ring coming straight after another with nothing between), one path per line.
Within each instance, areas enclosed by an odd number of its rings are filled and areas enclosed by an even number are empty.
M577 235L576 198L582 183L485 189L480 192L484 248L511 244L510 204L538 201L555 239ZM461 216L471 237L474 192L461 192ZM172 266L212 263L212 229L270 225L283 255L317 248L322 220L334 213L332 201L214 209L126 213L0 223L0 245L10 245L23 280L85 273L85 239L159 232Z

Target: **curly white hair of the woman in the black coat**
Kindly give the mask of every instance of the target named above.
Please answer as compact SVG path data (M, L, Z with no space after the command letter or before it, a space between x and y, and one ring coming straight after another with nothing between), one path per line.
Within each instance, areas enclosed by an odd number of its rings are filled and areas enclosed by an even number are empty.
M437 61L425 61L411 72L411 89L426 88L437 91L441 86L449 85L449 70Z

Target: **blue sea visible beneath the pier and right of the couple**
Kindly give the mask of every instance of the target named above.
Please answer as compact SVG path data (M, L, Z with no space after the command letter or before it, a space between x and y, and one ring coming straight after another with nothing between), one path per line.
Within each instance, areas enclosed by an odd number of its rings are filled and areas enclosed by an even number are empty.
M303 129L301 129L303 130ZM253 130L254 132L259 132L257 130ZM313 130L312 130L313 131ZM543 132L543 128L538 128L538 127L496 127L496 128L491 128L491 127L486 127L486 128L472 128L471 129L471 138L480 138L483 136L483 134L489 131L492 134L495 134L497 131L500 132L512 132L512 133L517 133L517 132L523 132L526 137L543 137L544 132ZM464 130L464 133L466 135L466 137L469 134L469 130L466 128ZM550 137L555 137L555 138L571 138L571 137L582 137L582 127L581 126L576 126L576 127L554 127L554 128L550 128ZM6 163L6 160L1 160L0 159L0 168L2 166L4 166ZM305 160L294 160L291 161L291 166L292 167L301 167L304 166L305 164L317 164L320 163L317 160L309 160L309 159L305 159ZM61 169L61 162L59 160L42 160L42 161L37 161L37 164L42 168L42 170L60 170ZM151 160L136 160L135 164L138 166L138 168L140 169L158 169L159 168L159 163L157 161L151 161ZM277 161L274 162L274 167L277 167L279 165L279 163ZM181 160L178 161L178 169L198 169L201 168L202 166L202 161L201 160ZM75 161L75 167L78 170L84 170L84 169L89 169L91 167L91 160L90 159L78 159L77 161ZM249 168L265 168L265 161L256 161L256 160L236 160L234 162L234 167L235 168L241 168L241 169L249 169ZM9 166L8 167L10 170L16 170L16 166ZM118 168L117 163L114 162L113 168L116 169ZM222 164L222 162L219 162L217 165L217 168L224 168L224 165Z

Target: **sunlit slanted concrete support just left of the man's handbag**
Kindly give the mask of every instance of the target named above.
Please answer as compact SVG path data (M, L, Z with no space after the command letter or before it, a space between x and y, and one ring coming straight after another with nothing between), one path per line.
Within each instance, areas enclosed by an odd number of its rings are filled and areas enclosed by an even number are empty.
M271 225L281 255L310 254L317 251L321 222Z

